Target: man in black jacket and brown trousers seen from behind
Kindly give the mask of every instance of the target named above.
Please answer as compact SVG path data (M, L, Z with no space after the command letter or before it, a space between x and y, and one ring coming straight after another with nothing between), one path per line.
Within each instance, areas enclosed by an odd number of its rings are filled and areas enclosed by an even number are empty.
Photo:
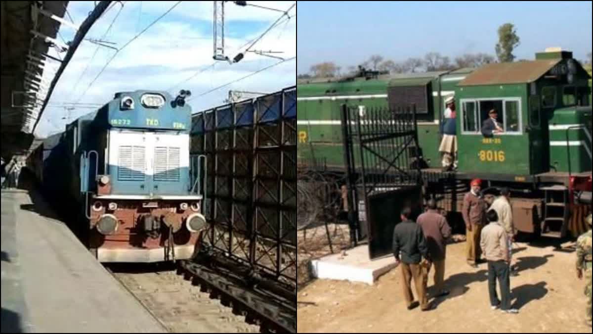
M426 270L423 268L429 268L431 263L422 228L410 220L411 215L410 207L401 210L401 223L393 229L393 255L396 257L396 264L401 265L401 279L408 310L415 307L414 295L410 288L413 278L420 308L428 311L430 307L426 296Z

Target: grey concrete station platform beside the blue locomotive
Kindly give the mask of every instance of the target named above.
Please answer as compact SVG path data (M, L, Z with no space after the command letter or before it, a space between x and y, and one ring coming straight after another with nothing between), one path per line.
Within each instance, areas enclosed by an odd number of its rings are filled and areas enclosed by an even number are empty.
M2 189L2 332L164 333L34 191Z

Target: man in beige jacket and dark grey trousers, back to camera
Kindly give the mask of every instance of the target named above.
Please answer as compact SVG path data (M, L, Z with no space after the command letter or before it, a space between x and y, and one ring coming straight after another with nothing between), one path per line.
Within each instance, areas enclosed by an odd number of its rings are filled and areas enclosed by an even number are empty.
M498 214L495 210L486 213L490 222L482 229L480 247L488 261L488 291L490 294L490 306L492 310L500 308L503 313L519 313L511 308L511 280L509 279L509 262L511 257L508 251L508 240L505 228L498 223ZM496 294L496 279L500 285L500 297Z

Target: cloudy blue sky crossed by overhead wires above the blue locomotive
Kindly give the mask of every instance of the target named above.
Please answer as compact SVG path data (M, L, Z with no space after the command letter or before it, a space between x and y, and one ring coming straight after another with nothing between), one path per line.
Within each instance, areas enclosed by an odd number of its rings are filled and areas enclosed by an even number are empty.
M175 3L174 1L123 1L123 8L116 3L91 27L87 37L99 39L113 22L104 40L115 43L116 48L121 48ZM252 3L288 10L295 1L254 1ZM170 89L171 94L176 94L180 89L189 89L193 97L189 104L193 111L197 112L221 105L228 96L229 89L271 93L296 83L296 62L289 61L231 86L197 97L200 93L208 92L278 62L278 59L254 53L247 53L241 62L232 65L228 62L213 61L212 6L212 1L182 1L154 26L117 53L91 86L89 86L91 81L115 51L104 47L99 47L97 50L96 44L83 41L50 97L48 107L36 128L36 136L45 137L48 134L63 131L67 121L73 121L93 111L92 108L81 108L81 106L66 110L63 103L78 101L103 104L109 102L116 92L136 89ZM74 23L79 25L93 7L93 1L71 1L68 4L68 13ZM119 16L117 16L118 13ZM249 40L263 33L281 15L280 12L261 8L238 7L231 2L226 4L225 14L225 47L227 55L231 58L238 52L244 51L246 49L244 45ZM293 8L290 14L295 15L296 8ZM69 20L67 14L65 19ZM253 49L283 51L284 58L296 56L296 20L297 18L293 17L282 21L282 24L270 30L257 42ZM58 36L57 39L60 42L62 38L68 42L74 37L75 31L62 25L59 34L61 37ZM97 53L93 58L95 50ZM57 56L58 52L50 49L50 55ZM59 56L63 58L65 53L59 53ZM214 65L211 66L212 64ZM56 70L58 65L58 63L49 64L46 67L49 70L47 75L50 75L52 67ZM204 68L207 70L203 73L176 86Z

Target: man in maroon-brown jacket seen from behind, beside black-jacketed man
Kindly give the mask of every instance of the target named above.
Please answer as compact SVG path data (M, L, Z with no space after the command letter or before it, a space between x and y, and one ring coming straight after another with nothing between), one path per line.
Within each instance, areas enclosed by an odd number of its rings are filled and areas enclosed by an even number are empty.
M447 223L447 219L436 211L436 201L433 199L428 201L428 210L418 216L416 221L422 227L428 245L428 253L435 268L436 297L446 296L449 291L445 290L443 286L445 279L445 251L447 249L447 240L451 237L451 226Z

